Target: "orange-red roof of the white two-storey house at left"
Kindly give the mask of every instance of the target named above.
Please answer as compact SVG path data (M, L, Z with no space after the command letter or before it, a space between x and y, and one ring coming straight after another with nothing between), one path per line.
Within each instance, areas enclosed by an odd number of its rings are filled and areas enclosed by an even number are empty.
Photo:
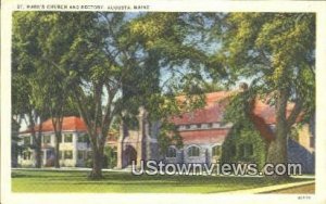
M36 126L35 130L38 131L39 126ZM86 125L80 117L68 116L64 117L62 122L62 130L63 131L87 131ZM29 133L30 128L22 131L21 133ZM52 119L47 119L42 123L42 131L54 131Z

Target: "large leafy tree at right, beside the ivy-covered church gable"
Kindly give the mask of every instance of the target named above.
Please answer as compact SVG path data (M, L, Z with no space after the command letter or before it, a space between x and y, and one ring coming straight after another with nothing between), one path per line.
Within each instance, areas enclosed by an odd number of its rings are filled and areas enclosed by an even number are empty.
M211 30L221 49L212 55L228 80L250 82L250 92L275 109L268 163L287 163L291 127L313 115L315 104L315 14L228 13ZM293 106L291 106L291 104Z

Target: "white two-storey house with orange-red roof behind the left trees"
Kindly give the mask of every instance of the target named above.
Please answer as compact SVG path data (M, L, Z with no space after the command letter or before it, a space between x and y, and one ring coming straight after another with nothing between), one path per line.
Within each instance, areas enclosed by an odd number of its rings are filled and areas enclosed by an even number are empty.
M38 127L35 130L37 133ZM35 141L30 132L30 129L20 132L20 137L22 138L21 145L28 146L34 144ZM41 160L43 166L54 165L54 137L52 120L48 119L42 124ZM90 157L91 150L83 119L75 116L63 118L62 138L60 139L59 149L61 166L85 166L85 162ZM27 148L18 156L18 164L23 167L35 166L35 150L33 148Z

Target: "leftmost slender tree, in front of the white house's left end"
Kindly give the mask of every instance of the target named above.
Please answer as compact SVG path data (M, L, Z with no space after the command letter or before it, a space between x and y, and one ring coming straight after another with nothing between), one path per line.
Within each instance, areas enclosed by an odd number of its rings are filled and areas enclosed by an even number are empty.
M36 167L41 167L42 123L48 118L46 98L40 93L42 80L37 75L42 66L35 55L39 53L34 15L14 13L12 49L12 117L23 117L27 124L35 150ZM36 128L37 127L37 128Z

